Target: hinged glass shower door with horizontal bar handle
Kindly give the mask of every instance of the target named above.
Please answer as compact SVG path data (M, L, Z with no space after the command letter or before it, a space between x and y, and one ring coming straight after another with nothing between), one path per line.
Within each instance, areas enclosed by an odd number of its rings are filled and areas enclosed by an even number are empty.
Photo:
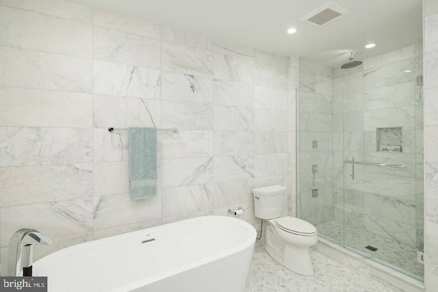
M344 246L414 278L422 250L421 57L343 83Z

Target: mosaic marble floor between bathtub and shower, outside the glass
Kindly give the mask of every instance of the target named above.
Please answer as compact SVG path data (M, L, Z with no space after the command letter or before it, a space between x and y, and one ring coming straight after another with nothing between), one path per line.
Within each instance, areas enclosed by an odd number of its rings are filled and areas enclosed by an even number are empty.
M261 242L253 253L246 292L391 292L395 291L363 274L352 271L320 252L311 250L313 276L289 271L271 258Z

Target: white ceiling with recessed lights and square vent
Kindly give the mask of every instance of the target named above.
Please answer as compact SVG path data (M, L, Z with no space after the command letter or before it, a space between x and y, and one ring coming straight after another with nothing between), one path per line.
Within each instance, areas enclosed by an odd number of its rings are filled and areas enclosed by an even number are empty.
M333 0L350 10L322 27L300 18L326 0L70 0L329 67L422 41L422 0ZM286 30L296 27L296 34ZM365 44L376 43L373 49Z

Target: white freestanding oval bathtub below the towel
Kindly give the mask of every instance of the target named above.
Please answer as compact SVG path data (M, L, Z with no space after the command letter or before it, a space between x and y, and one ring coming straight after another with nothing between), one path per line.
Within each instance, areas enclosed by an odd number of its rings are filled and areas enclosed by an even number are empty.
M33 270L49 292L242 292L256 237L243 220L196 217L73 245Z

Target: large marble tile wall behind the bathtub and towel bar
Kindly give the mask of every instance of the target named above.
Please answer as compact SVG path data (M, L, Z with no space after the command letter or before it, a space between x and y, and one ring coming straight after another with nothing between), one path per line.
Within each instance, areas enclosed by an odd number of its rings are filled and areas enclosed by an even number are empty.
M0 0L0 248L65 246L199 215L258 226L253 187L294 212L298 58L60 0ZM131 200L126 131L157 137L158 191ZM284 215L285 215L284 214Z

